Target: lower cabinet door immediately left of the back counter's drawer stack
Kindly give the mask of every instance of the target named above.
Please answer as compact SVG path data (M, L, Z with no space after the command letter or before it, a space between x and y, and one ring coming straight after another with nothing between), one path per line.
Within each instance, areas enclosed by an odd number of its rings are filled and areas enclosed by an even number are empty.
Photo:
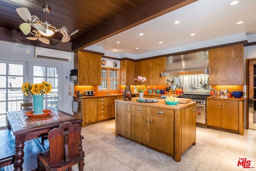
M97 98L85 99L85 123L97 121Z

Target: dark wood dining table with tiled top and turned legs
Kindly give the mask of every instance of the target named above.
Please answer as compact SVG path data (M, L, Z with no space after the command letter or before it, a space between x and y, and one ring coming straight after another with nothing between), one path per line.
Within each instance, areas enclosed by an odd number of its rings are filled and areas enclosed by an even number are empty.
M23 170L25 141L44 137L51 129L59 127L61 123L68 121L72 124L78 123L81 125L82 122L81 118L54 107L44 109L43 111L46 112L42 115L32 115L32 111L33 109L23 109L7 112L8 126L15 136L14 171ZM82 146L82 143L80 143L80 146ZM80 148L82 149L82 147Z

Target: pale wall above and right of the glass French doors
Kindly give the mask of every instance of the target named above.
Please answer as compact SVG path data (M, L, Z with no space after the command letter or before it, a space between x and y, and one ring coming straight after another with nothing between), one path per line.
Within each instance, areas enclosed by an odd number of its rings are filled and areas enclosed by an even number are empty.
M26 53L27 51L30 51L30 53ZM38 64L40 63L51 63L51 64L61 64L63 70L62 72L62 109L59 108L62 111L65 111L67 113L72 112L72 100L73 96L68 95L68 91L74 92L74 83L69 82L69 75L70 70L74 68L74 60L73 60L73 53L72 54L72 61L71 62L57 62L52 60L41 60L41 59L35 59L34 58L34 46L28 46L23 44L16 44L11 42L4 42L0 41L0 59L6 59L6 60L18 60L18 61L28 61L28 62L36 62ZM66 77L68 77L68 81L66 82ZM32 79L32 78L28 78ZM71 89L68 89L69 85L71 85Z

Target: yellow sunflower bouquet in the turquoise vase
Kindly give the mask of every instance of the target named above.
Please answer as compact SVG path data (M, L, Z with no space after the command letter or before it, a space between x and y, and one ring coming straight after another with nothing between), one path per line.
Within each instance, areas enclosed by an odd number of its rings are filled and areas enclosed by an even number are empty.
M30 84L29 82L22 84L22 92L28 96L29 92L32 95L44 95L50 93L52 85L48 82L42 82L41 84Z

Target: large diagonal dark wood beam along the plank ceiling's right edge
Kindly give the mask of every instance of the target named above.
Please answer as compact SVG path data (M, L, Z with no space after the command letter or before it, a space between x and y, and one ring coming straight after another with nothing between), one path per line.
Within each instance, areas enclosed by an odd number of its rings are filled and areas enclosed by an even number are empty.
M72 51L81 50L120 32L172 12L197 0L145 0L138 6L72 42Z

